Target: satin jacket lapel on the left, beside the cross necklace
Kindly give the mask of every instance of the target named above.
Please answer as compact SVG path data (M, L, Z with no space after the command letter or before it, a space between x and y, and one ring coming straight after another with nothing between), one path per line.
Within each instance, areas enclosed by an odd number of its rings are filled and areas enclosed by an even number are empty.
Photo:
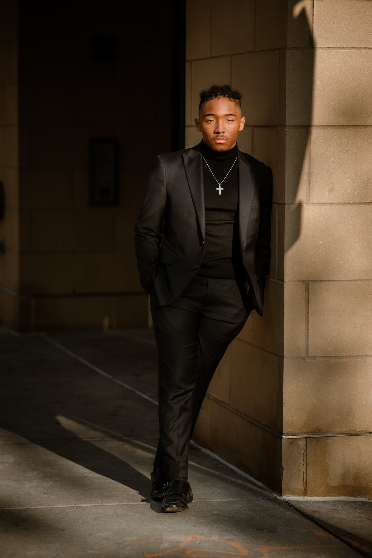
M206 212L204 209L202 155L200 152L190 149L182 157L195 213L204 238L206 235Z

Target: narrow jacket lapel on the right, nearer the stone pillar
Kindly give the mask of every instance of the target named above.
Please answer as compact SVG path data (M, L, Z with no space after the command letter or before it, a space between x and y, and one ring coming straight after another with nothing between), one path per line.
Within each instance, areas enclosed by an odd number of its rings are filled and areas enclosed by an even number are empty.
M252 201L255 192L255 174L253 165L246 162L238 155L238 176L239 176L239 236L241 251L244 252L247 241L247 226L251 214Z

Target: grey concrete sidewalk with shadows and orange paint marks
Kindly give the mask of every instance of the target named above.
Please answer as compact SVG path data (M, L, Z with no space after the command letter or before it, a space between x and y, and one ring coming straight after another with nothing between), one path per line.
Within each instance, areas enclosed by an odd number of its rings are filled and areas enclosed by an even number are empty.
M0 345L1 558L372 556L370 502L287 503L196 447L194 502L161 513L152 331Z

